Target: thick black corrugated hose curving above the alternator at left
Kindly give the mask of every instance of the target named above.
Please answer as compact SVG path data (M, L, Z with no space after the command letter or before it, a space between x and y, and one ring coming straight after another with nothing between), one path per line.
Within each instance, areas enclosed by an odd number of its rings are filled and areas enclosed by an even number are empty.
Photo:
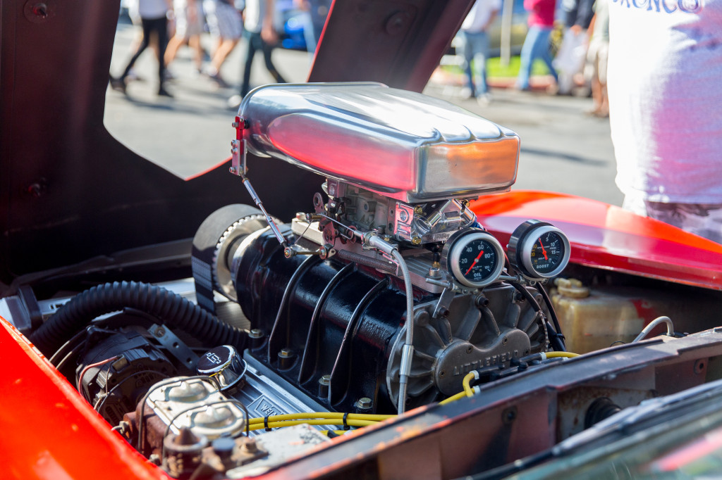
M123 308L143 311L207 346L232 345L241 351L245 348L245 330L223 323L181 295L139 282L105 283L75 295L30 335L30 340L49 357L97 316Z

